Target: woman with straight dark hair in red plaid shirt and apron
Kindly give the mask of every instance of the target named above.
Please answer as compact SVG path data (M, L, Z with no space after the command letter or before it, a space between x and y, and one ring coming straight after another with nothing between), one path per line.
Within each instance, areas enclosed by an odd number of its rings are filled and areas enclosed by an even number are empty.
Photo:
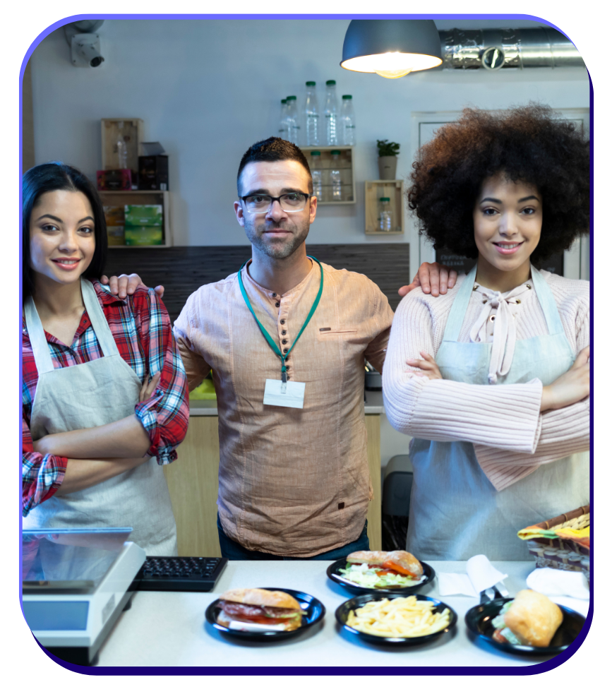
M186 376L152 289L100 284L104 208L63 162L23 177L23 527L132 527L176 555L162 465L188 422Z

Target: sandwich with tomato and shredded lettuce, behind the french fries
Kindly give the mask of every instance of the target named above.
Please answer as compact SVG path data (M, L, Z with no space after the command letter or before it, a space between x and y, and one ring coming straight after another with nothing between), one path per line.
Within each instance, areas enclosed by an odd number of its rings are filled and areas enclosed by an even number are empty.
M412 587L423 581L423 566L408 551L354 551L339 572L344 580L371 589Z

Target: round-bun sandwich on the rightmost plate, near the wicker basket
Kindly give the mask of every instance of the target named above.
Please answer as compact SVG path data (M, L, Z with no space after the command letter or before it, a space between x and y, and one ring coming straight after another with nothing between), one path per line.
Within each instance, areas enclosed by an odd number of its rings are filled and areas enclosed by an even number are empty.
M493 639L500 643L547 647L563 622L563 613L544 594L531 589L520 591L501 608L491 624Z

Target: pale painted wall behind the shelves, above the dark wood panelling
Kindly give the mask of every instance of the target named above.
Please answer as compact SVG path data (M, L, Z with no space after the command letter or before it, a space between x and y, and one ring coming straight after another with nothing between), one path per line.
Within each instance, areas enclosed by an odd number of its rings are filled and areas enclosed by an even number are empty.
M95 177L100 119L140 117L145 141L160 141L170 156L175 244L246 244L232 207L241 155L276 135L282 97L300 97L306 80L316 80L321 102L325 80L333 78L356 110L357 203L321 207L309 241L409 241L408 224L404 237L364 235L363 181L378 178L377 138L400 143L402 178L412 162L412 112L500 109L529 100L589 107L584 68L440 70L397 80L346 71L340 58L348 24L107 20L99 31L105 61L97 68L73 67L58 30L32 56L36 162L64 160Z

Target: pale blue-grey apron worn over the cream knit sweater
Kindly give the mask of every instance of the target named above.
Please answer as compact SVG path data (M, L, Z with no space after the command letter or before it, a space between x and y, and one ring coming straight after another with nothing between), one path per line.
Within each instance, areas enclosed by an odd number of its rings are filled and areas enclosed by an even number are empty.
M452 304L436 364L444 379L488 384L492 344L457 341L475 278L476 267ZM510 371L498 383L539 378L548 386L575 360L551 289L534 268L532 280L548 335L517 340ZM414 439L410 459L414 482L407 550L421 561L465 561L476 554L491 561L530 560L518 530L589 503L588 452L540 465L502 491L487 479L472 443Z

